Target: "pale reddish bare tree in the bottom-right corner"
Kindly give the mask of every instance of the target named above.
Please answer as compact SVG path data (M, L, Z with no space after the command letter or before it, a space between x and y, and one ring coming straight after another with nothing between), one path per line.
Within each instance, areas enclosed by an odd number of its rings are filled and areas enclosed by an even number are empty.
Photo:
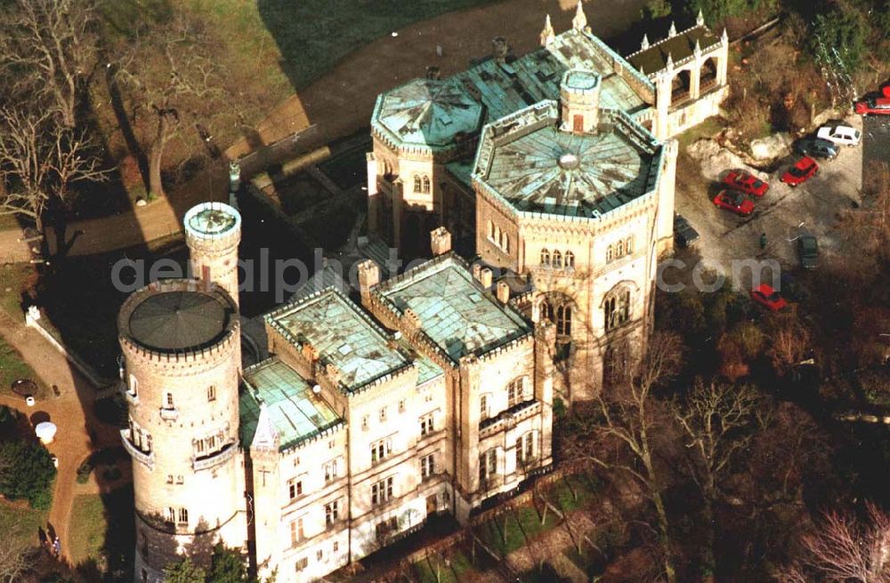
M826 513L801 540L803 556L784 573L786 581L890 582L890 515L866 505L866 519Z

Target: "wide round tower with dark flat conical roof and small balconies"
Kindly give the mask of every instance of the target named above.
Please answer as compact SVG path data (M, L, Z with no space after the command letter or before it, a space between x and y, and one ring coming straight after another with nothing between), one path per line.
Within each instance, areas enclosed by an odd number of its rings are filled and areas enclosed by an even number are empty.
M194 280L134 292L117 319L133 457L135 580L247 538L239 475L239 318L222 288Z

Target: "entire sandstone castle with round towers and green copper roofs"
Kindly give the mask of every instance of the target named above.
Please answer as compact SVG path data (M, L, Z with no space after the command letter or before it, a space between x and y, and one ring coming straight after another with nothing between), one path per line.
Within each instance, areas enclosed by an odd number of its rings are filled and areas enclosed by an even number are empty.
M552 465L555 395L590 398L644 349L672 241L664 139L725 95L725 36L698 22L625 60L579 4L541 42L380 97L368 226L433 259L391 277L367 260L354 297L273 310L260 363L242 369L239 212L186 213L198 278L150 284L118 319L136 581L218 541L312 581L433 515L463 523Z

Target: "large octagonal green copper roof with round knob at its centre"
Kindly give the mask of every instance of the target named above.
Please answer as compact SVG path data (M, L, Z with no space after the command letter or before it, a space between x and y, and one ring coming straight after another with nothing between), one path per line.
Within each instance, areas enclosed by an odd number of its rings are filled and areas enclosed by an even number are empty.
M473 172L520 212L599 217L657 184L660 145L642 126L600 110L595 133L557 127L555 101L486 126Z

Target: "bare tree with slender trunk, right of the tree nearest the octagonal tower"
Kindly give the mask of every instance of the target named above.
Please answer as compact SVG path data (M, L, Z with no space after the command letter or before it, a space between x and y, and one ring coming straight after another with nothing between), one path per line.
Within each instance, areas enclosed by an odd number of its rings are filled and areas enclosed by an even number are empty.
M748 428L756 418L758 401L751 387L696 379L686 400L671 405L692 454L692 479L698 484L703 499L702 522L708 537L703 548L703 566L712 573L716 567L714 504L724 498L721 478L730 472L738 452L751 442Z

